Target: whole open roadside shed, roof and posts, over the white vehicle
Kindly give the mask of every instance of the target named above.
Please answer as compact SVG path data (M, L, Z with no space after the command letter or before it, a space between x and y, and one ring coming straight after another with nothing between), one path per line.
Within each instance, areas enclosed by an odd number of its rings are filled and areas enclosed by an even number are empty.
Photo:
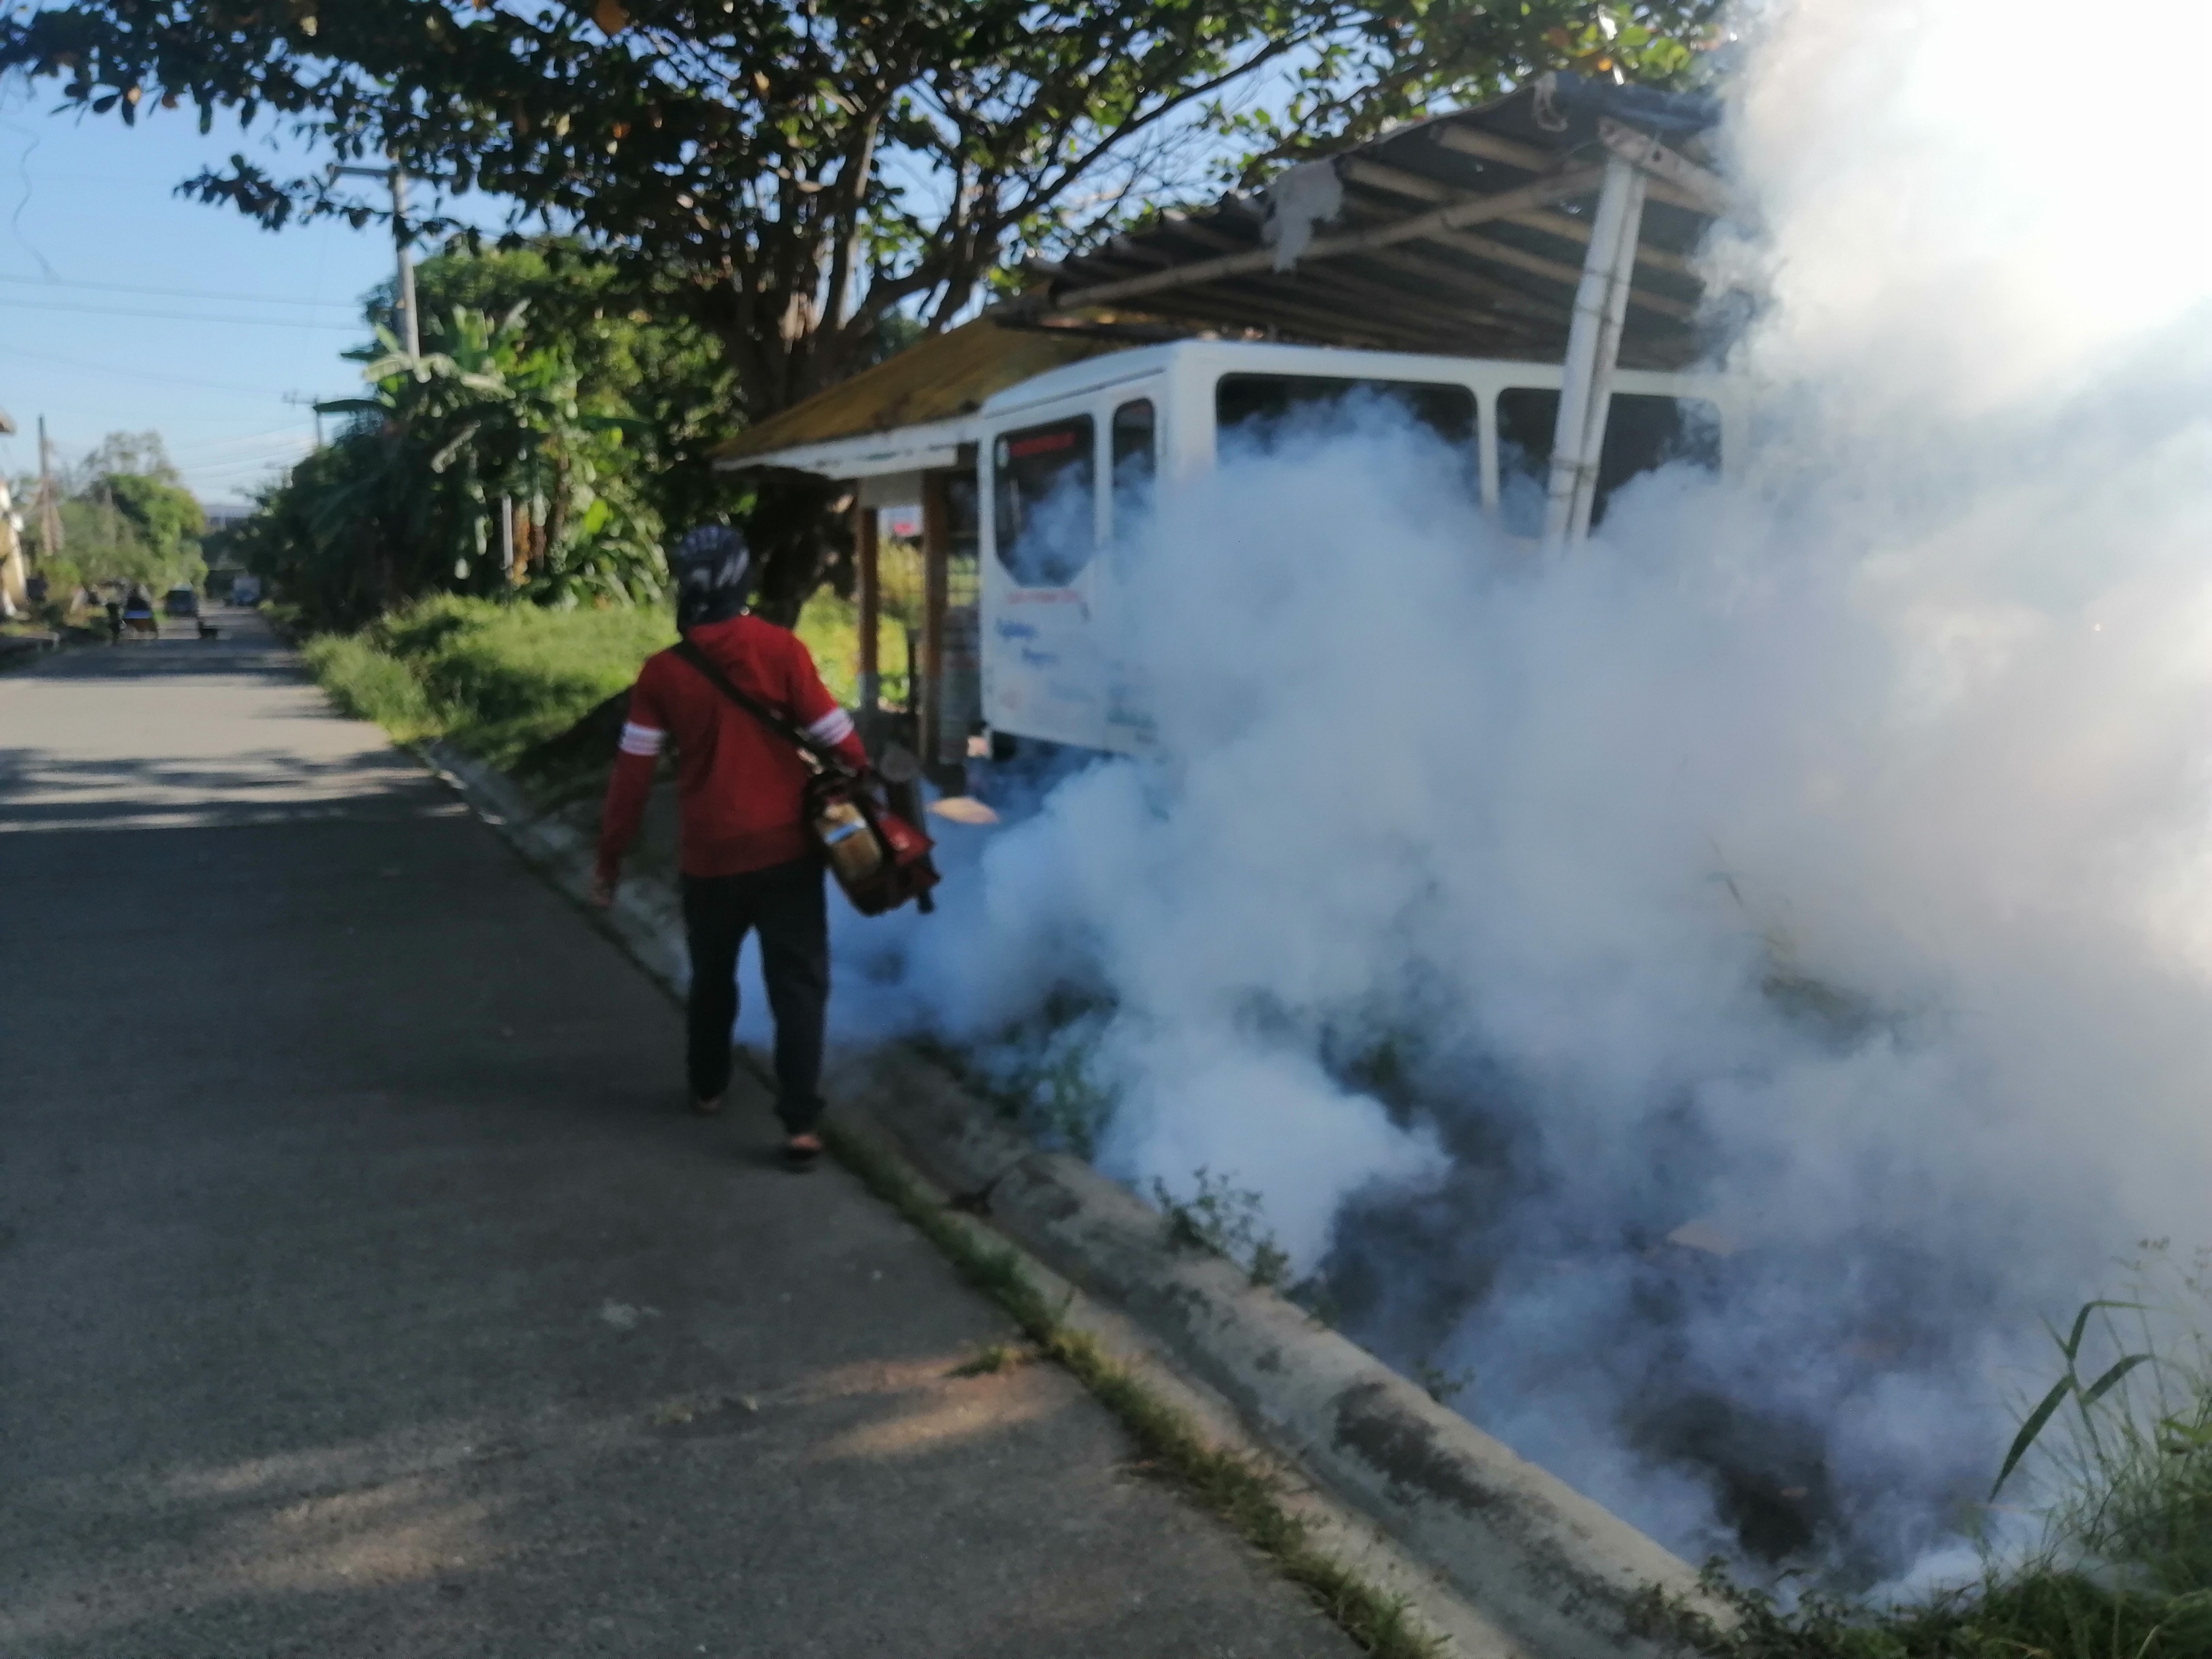
M876 509L920 502L918 737L927 761L956 765L975 697L973 442L989 396L1194 334L1562 363L1546 538L1579 535L1615 365L1686 367L1732 321L1692 263L1734 210L1701 148L1717 119L1705 97L1540 75L1290 166L1254 195L1033 261L1018 296L761 422L719 465L856 487L863 710L878 688Z

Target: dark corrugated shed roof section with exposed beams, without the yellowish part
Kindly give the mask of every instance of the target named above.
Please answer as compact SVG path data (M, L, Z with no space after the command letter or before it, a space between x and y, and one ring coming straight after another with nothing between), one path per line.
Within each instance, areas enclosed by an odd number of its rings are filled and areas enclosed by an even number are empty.
M1044 319L1110 303L1316 345L1557 363L1608 135L1694 146L1717 117L1708 100L1544 75L1290 168L1256 197L1164 212L1091 254L1035 263L1035 285L1002 310ZM1710 345L1688 257L1719 210L1717 181L1694 153L1657 161L1621 341L1632 367L1679 367ZM1294 261L1285 230L1303 243Z

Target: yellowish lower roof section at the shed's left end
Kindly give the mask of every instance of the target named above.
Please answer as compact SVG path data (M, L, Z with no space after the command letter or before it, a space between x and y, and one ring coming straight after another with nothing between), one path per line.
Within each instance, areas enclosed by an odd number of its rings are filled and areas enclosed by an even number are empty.
M984 398L1046 369L1117 352L1128 341L1068 330L1006 327L982 316L816 392L714 451L721 467L807 445L860 438L975 414Z

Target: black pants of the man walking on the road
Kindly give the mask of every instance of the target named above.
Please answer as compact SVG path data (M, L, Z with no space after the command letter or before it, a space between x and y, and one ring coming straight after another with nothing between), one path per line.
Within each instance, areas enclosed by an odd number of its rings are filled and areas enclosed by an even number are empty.
M730 1086L737 951L754 929L761 931L768 1006L776 1015L776 1117L792 1135L805 1135L823 1115L823 1011L830 1006L830 909L818 858L743 876L684 878L692 1099L717 1099Z

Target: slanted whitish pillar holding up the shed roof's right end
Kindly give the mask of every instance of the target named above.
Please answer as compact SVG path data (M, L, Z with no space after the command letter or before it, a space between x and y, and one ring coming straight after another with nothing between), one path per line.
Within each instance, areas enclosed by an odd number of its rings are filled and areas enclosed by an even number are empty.
M1619 155L1606 157L1606 177L1590 221L1590 252L1575 288L1575 321L1566 334L1559 378L1559 425L1551 438L1551 489L1544 502L1544 551L1557 553L1590 533L1597 467L1606 451L1606 414L1613 372L1621 361L1628 288L1637 274L1637 237L1644 228L1644 173Z

